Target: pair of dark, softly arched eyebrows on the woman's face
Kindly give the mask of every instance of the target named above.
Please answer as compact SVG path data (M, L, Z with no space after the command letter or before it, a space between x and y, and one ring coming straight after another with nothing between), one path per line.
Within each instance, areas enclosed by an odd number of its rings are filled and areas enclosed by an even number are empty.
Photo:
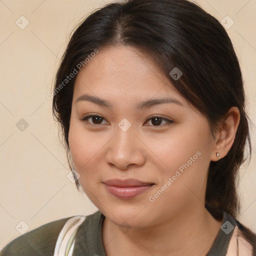
M86 93L79 96L75 100L75 104L78 101L83 101L83 100L90 101L92 103L95 103L95 104L103 106L103 107L108 107L108 108L113 107L112 104L110 103L110 101L108 101L106 99L99 98L99 97L95 97L95 96L92 96L92 95L89 95L89 94L86 94ZM175 98L161 97L161 98L144 100L144 101L136 104L136 108L137 109L142 109L142 108L145 108L145 107L152 107L154 105L164 104L164 103L175 103L175 104L178 104L180 106L183 106L183 104Z

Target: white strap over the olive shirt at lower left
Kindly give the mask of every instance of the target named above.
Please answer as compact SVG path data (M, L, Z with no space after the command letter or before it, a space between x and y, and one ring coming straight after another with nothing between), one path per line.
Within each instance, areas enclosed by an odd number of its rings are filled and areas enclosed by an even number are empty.
M74 216L69 218L62 227L54 249L53 256L71 256L74 247L74 236L79 225L84 221L86 216ZM68 248L70 246L71 247ZM68 254L67 254L68 253Z

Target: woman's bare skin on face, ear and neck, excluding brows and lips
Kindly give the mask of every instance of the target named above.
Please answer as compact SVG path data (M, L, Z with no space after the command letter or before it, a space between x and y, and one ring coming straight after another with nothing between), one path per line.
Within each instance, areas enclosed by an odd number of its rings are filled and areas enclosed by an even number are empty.
M84 93L109 100L112 108L75 102ZM136 109L137 103L162 96L182 105ZM102 119L82 121L88 114ZM160 119L157 125L150 119L154 116L173 122ZM118 127L123 118L131 123L126 131ZM76 77L68 139L79 183L105 215L102 240L107 256L206 255L221 226L204 207L207 170L211 160L218 160L216 152L227 154L238 123L239 111L232 107L213 139L206 117L146 56L130 46L99 49ZM200 156L149 201L197 151ZM119 199L102 183L111 178L154 185L131 199Z

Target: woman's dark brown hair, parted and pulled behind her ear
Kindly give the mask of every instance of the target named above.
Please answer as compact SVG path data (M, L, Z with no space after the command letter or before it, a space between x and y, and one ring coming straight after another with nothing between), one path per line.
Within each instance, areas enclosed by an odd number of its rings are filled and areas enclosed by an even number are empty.
M75 76L61 89L58 86L95 49L113 45L133 46L151 58L188 102L207 117L212 132L230 107L238 107L240 122L233 145L225 157L210 162L205 194L205 207L215 218L221 218L218 209L236 217L237 174L245 158L246 139L251 153L242 75L225 29L187 0L110 3L92 12L75 29L56 74L52 105L62 128L69 166L68 130ZM174 67L183 73L177 80L169 75ZM78 181L76 185L79 188Z

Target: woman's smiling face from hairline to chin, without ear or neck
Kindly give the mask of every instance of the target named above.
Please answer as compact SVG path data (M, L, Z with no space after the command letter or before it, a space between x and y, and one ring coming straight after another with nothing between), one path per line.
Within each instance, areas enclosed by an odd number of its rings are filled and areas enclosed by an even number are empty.
M207 119L136 49L99 49L79 71L68 139L81 187L113 223L149 226L204 208Z

